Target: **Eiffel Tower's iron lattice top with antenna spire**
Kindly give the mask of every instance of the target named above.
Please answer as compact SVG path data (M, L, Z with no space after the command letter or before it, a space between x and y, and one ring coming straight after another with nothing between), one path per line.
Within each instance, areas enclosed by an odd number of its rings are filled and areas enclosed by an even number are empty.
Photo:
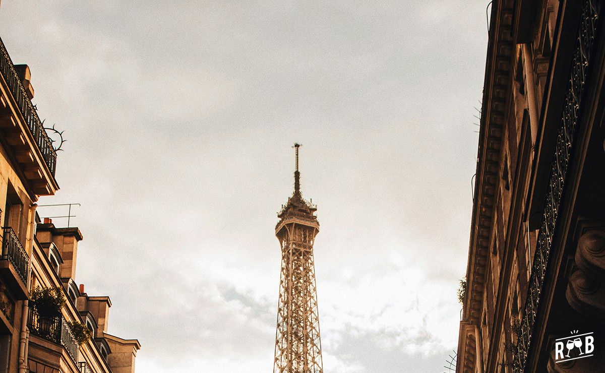
M313 242L319 232L316 206L302 199L298 148L294 193L278 213L275 236L281 245L280 300L273 373L323 373Z

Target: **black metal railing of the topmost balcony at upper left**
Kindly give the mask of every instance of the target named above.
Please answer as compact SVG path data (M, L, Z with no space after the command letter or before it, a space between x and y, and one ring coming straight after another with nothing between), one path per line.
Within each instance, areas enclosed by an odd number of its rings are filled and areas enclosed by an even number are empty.
M8 89L10 89L19 111L25 119L27 128L30 130L31 135L38 145L38 149L42 153L44 163L48 166L50 173L54 176L54 170L57 164L57 152L53 148L53 142L48 137L42 121L38 117L38 112L34 109L34 105L31 103L30 98L27 96L27 91L19 78L19 74L15 70L13 61L8 56L8 52L4 47L4 42L0 39L0 73L7 83Z

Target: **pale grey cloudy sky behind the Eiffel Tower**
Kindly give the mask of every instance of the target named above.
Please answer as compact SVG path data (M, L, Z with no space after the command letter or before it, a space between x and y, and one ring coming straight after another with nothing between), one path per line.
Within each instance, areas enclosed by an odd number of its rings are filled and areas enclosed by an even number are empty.
M82 204L76 281L111 297L137 372L272 371L295 141L325 371L444 370L486 3L2 0L0 36L68 140L41 203Z

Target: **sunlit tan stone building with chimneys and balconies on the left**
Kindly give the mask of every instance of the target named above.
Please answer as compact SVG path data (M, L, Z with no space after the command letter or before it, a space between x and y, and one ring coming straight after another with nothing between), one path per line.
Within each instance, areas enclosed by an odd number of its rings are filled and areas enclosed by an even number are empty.
M0 40L0 373L133 373L139 342L107 334L111 300L76 285L82 233L36 213L59 186L30 80Z

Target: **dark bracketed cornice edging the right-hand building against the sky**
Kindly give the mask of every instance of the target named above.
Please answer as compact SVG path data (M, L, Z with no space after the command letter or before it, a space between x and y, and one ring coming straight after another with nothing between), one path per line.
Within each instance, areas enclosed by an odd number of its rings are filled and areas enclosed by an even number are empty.
M483 304L486 264L489 254L495 198L499 186L502 134L508 117L514 41L511 35L512 0L494 1L483 85L479 151L473 198L473 218L466 270L464 317L479 324Z

